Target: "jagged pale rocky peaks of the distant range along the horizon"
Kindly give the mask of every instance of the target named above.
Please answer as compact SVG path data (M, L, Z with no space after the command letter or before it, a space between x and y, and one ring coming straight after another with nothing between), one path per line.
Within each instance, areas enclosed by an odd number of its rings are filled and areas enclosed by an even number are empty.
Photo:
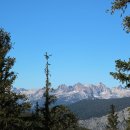
M27 95L32 104L34 104L36 101L38 101L40 105L43 104L42 96L44 89L27 90L24 88L13 88L13 91ZM121 86L109 88L103 83L99 83L98 85L83 85L81 83L77 83L73 86L67 86L64 84L60 85L52 92L52 94L57 96L58 104L71 104L82 99L130 97L130 89L125 89Z

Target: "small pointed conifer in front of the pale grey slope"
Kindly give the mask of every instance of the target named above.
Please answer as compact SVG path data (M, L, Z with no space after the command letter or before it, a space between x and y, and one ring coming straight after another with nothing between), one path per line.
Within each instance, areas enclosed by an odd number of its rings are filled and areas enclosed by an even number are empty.
M107 130L118 130L117 125L118 125L118 116L117 113L115 112L115 106L112 104L110 106L110 114L108 115L108 125L107 125Z

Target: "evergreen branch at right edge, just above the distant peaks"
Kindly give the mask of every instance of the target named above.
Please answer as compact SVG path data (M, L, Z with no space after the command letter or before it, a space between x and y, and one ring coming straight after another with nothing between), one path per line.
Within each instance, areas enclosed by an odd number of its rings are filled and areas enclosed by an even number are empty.
M116 72L110 72L115 79L119 80L126 87L130 87L130 59L128 61L116 60Z

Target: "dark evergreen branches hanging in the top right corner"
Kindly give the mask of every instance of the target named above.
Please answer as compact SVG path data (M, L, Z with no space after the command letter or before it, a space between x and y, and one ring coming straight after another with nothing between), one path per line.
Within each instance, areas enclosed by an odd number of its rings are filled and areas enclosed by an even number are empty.
M114 0L112 2L111 13L113 14L116 10L121 10L121 16L125 13L130 0ZM130 16L125 16L123 18L123 26L127 33L130 32Z

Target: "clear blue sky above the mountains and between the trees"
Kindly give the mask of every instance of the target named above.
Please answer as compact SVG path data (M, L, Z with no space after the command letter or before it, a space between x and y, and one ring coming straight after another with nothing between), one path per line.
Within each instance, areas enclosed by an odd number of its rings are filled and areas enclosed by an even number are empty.
M110 0L1 0L0 26L11 33L18 73L15 87L44 86L44 53L51 82L119 85L109 72L116 59L130 56L130 36L120 14L110 15Z

